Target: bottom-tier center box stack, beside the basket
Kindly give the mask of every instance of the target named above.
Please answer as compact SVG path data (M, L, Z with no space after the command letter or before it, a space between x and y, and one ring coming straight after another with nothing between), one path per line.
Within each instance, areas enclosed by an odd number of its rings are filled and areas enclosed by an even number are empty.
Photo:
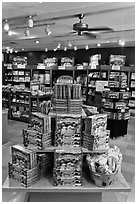
M82 185L81 148L61 148L54 153L53 181L55 186Z

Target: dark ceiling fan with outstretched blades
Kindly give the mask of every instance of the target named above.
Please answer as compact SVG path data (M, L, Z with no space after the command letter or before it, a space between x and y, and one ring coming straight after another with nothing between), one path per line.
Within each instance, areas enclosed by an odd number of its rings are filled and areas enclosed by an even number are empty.
M94 28L89 28L88 24L82 22L82 19L84 18L85 14L79 14L79 22L73 24L73 30L65 35L60 35L60 36L54 36L54 37L67 37L68 35L79 35L79 36L86 36L87 38L90 39L96 39L97 35L94 33L90 32L99 32L99 31L113 31L113 29L109 27L94 27Z

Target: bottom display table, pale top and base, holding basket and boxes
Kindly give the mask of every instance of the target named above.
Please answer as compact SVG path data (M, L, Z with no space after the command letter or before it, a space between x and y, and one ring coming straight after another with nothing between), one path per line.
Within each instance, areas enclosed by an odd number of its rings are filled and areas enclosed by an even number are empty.
M18 186L15 181L7 179L3 184L6 191L25 191L30 192L30 201L33 202L101 202L103 192L129 192L130 186L119 173L115 182L108 187L97 187L86 177L83 178L81 187L54 187L52 176L42 178L31 187L25 188Z

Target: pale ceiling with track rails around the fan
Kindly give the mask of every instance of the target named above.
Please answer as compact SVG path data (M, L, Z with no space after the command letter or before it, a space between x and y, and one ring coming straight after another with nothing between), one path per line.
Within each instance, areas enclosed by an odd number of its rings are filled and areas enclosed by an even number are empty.
M73 24L78 23L76 14L84 13L82 20L88 27L107 26L113 32L90 32L96 34L96 38L87 38L76 34L70 35L73 31ZM27 27L27 20L30 15L34 15L34 24L50 24L51 35L45 33L45 25L30 28L30 37L24 34ZM9 46L21 51L48 50L57 47L61 43L61 48L67 46L73 49L74 46L84 48L97 47L101 43L102 47L118 46L118 40L124 40L125 46L135 45L135 3L134 2L3 2L2 19L7 19L13 35L8 35L2 29L3 48ZM23 28L19 28L23 27ZM39 40L39 44L35 40ZM72 47L68 43L72 43Z

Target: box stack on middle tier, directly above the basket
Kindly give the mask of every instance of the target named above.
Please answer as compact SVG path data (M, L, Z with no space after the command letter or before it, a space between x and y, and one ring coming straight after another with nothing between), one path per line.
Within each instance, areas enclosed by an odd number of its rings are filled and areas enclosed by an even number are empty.
M89 116L85 120L83 147L89 150L107 150L110 132L107 128L107 114Z

